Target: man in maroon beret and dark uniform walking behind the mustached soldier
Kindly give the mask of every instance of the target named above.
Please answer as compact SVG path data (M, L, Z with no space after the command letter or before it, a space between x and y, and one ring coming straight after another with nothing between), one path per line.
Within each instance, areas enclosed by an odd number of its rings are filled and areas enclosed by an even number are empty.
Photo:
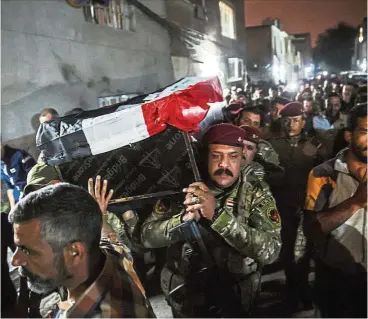
M305 121L301 103L287 104L280 115L284 135L270 142L279 154L280 166L284 171L267 175L267 182L282 220L280 258L286 275L286 299L292 309L297 311L312 306L308 287L309 259L306 257L301 263L296 263L294 248L308 174L314 166L323 162L324 153L318 141L303 134Z

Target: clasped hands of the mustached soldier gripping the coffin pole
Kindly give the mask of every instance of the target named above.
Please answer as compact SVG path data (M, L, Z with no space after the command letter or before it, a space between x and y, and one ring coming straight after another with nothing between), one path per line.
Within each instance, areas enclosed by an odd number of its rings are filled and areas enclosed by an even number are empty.
M196 212L212 220L215 214L216 201L215 196L205 184L201 182L192 183L188 188L184 188L183 192L187 193L184 201L184 205L187 206L187 214Z

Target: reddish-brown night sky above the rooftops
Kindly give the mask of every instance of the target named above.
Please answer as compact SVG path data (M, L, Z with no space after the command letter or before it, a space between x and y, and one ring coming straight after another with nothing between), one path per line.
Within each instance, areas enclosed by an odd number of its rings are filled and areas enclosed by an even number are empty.
M319 33L339 21L357 26L366 15L366 0L245 0L246 26L279 18L281 29L288 33L310 32L312 46Z

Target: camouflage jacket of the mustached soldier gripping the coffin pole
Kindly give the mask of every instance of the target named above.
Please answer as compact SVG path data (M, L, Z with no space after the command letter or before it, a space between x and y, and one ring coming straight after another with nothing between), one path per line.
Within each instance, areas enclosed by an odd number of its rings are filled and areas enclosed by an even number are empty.
M216 218L207 227L199 223L199 228L216 266L243 277L276 260L281 246L280 216L267 184L256 178L248 181L242 170L230 190L211 187L211 191ZM141 241L146 248L168 246L167 265L186 275L190 269L186 243L170 232L181 223L182 214L179 201L166 205L158 201L142 224Z

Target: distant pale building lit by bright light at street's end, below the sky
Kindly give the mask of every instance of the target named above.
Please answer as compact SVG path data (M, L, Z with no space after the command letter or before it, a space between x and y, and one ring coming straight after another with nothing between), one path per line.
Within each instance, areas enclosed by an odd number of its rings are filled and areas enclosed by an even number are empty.
M278 20L246 28L247 71L253 82L290 83L299 77L301 57ZM261 39L261 40L260 40Z

